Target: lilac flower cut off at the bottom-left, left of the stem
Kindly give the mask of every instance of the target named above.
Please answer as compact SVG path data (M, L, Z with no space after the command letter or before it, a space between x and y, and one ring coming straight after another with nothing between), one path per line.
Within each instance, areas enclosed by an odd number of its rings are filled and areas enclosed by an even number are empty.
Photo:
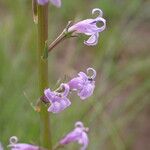
M38 146L17 142L18 138L16 136L11 137L8 147L10 147L11 150L39 150Z

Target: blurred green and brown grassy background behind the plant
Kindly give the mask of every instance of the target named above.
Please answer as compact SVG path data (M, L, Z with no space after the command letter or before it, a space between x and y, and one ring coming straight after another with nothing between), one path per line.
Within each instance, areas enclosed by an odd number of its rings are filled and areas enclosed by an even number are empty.
M68 20L90 18L95 7L107 20L97 46L87 47L87 37L81 37L49 55L52 89L88 67L97 70L93 96L81 101L72 93L71 107L51 115L53 144L81 120L90 128L89 150L150 149L149 6L149 0L62 0L60 9L49 6L49 42ZM0 141L5 149L13 135L39 143L39 114L32 107L38 99L36 41L31 0L0 0Z

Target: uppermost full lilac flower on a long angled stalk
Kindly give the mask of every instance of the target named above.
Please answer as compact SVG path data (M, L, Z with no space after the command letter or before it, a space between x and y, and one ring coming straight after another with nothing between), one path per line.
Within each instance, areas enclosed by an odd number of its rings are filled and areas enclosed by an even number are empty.
M68 32L75 32L75 33L83 33L85 35L90 36L87 41L84 41L84 44L96 45L99 38L99 33L104 31L106 28L106 20L102 18L103 12L99 8L95 8L92 10L92 14L98 12L99 15L95 19L86 19L80 21L68 29ZM98 23L103 23L101 27L97 26Z

